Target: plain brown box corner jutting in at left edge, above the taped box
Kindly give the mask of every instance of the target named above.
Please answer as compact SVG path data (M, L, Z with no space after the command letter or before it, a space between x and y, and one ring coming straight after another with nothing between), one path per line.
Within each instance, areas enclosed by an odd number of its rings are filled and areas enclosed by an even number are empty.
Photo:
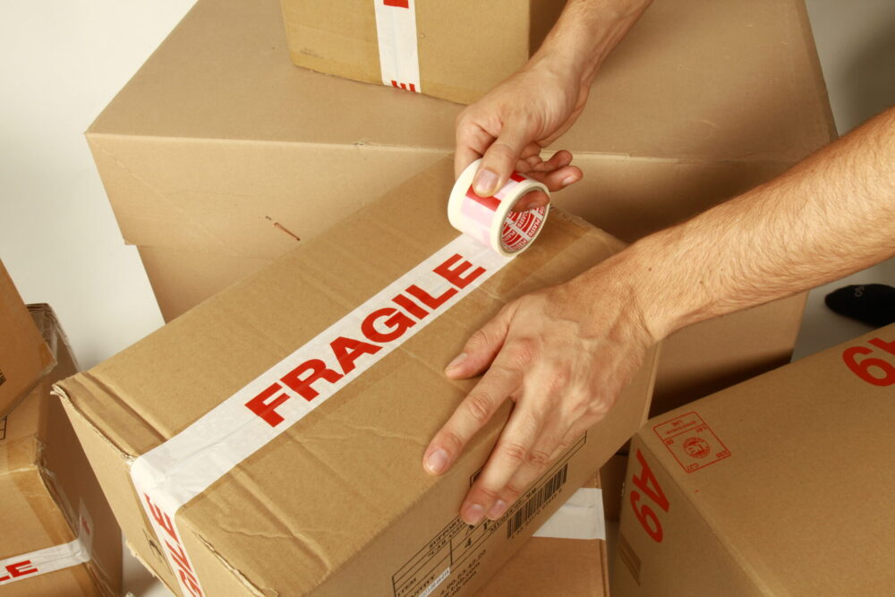
M21 302L0 261L0 417L7 414L53 368L50 347Z

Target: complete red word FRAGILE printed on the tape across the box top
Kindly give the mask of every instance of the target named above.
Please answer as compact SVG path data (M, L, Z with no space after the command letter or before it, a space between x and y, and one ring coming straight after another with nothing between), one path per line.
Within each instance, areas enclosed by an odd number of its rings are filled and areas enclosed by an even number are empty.
M276 427L285 421L283 416L277 413L278 406L283 405L296 395L311 402L311 400L320 395L318 390L312 388L312 384L325 382L335 384L342 380L347 373L354 371L355 361L362 359L365 354L378 353L382 345L394 342L402 337L407 329L413 327L415 322L412 318L422 320L431 312L442 308L459 290L463 290L466 286L472 284L476 278L482 276L485 273L485 269L476 267L470 261L464 260L463 256L455 254L439 263L432 269L432 272L444 278L453 287L448 288L441 294L433 295L415 284L407 286L401 294L392 299L392 303L402 308L403 311L393 306L384 306L376 309L362 320L358 329L359 336L362 336L363 340L340 336L329 343L331 354L328 357L334 358L328 358L328 362L335 360L338 363L337 369L340 371L329 369L327 361L323 358L301 362L280 380L272 381L267 388L264 388L258 395L246 402L246 408L257 414L262 421L267 422L271 427ZM416 301L411 297L416 299ZM426 311L421 306L421 303L428 307L430 311ZM149 503L149 498L147 498L147 502ZM150 510L153 507L149 503ZM153 510L153 516L156 517L158 524L177 541L174 526L166 524L170 523L170 521L166 516L162 516L163 514L159 510L158 516L156 516L156 512Z

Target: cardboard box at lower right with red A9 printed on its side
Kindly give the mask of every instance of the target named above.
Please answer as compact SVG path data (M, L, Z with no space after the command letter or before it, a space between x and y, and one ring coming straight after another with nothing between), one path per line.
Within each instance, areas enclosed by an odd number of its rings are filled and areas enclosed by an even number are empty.
M613 594L891 595L895 326L652 419Z

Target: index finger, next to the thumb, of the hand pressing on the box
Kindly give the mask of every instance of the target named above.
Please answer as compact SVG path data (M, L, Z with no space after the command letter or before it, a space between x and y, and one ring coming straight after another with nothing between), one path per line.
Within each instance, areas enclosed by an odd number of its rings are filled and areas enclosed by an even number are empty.
M473 435L490 421L499 406L516 391L520 380L522 374L516 369L499 365L491 367L435 434L422 457L423 468L430 474L447 471Z

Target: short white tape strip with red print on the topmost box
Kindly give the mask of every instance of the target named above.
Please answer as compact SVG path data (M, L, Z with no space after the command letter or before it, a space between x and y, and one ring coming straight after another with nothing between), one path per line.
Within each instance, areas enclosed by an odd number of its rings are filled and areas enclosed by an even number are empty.
M382 84L420 93L416 0L373 0Z

